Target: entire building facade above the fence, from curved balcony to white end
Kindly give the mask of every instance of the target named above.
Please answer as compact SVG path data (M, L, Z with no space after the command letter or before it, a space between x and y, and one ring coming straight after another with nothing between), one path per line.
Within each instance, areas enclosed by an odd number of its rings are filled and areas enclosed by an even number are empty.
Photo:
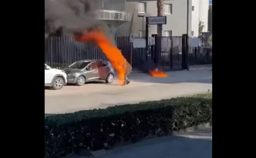
M96 19L108 26L112 36L145 36L146 17L157 16L156 0L93 0L93 5ZM208 9L208 0L164 0L162 36L198 36L200 21L203 32L208 31ZM149 36L157 34L157 25L148 30Z

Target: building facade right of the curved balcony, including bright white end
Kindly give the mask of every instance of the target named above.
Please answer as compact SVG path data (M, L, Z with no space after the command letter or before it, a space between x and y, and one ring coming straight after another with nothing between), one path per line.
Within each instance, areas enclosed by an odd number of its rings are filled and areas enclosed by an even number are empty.
M164 15L166 24L163 25L163 36L198 36L199 21L204 22L207 31L208 0L165 0ZM145 36L146 16L157 16L156 0L126 0L125 12L131 20L118 27L116 35ZM157 25L149 26L149 36L157 34Z

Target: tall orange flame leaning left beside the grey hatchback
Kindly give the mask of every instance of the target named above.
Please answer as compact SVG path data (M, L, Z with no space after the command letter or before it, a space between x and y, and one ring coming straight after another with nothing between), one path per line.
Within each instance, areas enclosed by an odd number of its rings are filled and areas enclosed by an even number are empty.
M117 71L117 78L120 84L124 83L125 75L127 73L127 67L129 63L126 61L121 51L112 44L112 41L108 39L102 31L94 30L91 32L85 32L82 36L75 36L76 41L79 42L91 42L94 41L99 46L106 57L109 59L113 68Z

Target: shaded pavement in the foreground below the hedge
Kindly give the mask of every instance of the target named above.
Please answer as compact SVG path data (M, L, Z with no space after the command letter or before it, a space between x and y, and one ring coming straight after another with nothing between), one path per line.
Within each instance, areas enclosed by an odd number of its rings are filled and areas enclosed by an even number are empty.
M212 127L116 147L98 158L212 158Z

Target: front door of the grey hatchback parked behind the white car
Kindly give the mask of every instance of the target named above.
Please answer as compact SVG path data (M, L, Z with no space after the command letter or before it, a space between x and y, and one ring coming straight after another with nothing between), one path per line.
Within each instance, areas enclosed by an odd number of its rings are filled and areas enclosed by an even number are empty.
M87 66L86 80L87 81L99 80L99 71L97 67L97 62L93 61Z

